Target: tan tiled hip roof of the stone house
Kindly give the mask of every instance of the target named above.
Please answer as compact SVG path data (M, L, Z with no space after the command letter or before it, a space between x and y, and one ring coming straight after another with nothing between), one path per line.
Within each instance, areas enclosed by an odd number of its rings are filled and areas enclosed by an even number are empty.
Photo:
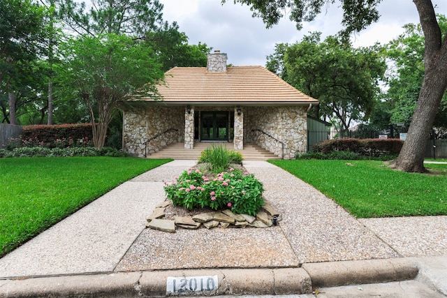
M158 89L166 104L318 104L262 66L229 66L226 73L208 73L205 67L175 67L166 72L165 82Z

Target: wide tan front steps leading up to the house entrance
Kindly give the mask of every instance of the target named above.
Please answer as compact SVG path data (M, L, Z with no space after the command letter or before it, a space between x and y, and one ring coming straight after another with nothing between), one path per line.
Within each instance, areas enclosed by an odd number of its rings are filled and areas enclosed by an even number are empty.
M233 143L221 142L196 142L193 149L184 149L184 143L178 142L163 147L161 150L153 154L147 154L147 158L174 158L174 159L193 159L200 158L200 153L212 144L223 144L228 150L233 149ZM265 149L262 149L256 144L244 144L244 149L236 150L242 153L244 161L267 161L268 159L280 159L278 156L272 154Z

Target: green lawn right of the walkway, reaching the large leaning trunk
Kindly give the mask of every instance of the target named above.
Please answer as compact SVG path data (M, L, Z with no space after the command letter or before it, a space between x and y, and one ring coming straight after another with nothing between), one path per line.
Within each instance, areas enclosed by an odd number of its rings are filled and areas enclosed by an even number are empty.
M431 174L390 170L381 161L270 161L312 184L357 218L447 214L447 165Z

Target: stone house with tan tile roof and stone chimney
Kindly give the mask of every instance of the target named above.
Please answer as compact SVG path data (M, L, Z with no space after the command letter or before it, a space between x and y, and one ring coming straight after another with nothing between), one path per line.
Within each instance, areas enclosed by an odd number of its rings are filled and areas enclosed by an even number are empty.
M124 111L124 151L144 157L173 142L254 143L285 159L307 151L307 112L318 100L262 66L227 66L220 51L207 57L206 68L168 70L157 87L163 100Z

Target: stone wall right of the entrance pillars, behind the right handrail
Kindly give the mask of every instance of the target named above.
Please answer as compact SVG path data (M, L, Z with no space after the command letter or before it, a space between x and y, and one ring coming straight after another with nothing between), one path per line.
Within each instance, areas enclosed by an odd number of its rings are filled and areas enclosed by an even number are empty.
M284 143L284 159L293 159L307 151L306 107L250 107L244 122L247 142L259 144L277 156L282 156L282 144L272 137ZM252 131L256 129L272 137Z

